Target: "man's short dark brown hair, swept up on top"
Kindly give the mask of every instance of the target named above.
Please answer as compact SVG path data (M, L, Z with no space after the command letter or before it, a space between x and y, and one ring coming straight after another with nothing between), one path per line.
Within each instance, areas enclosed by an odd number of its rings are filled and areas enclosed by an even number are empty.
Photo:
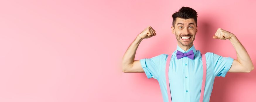
M189 19L189 18L193 18L194 21L196 22L197 25L197 11L190 8L190 7L181 7L180 10L178 12L173 13L172 17L173 17L173 27L175 27L175 21L176 18L183 18L183 19Z

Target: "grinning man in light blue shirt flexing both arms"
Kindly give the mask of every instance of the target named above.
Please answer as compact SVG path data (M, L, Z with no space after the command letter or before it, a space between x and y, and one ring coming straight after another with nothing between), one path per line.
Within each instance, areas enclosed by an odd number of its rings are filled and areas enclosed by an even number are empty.
M172 54L169 69L169 80L171 99L173 102L198 102L202 85L202 57L201 52L196 50L193 41L197 33L197 12L189 7L182 7L172 15L172 33L178 41L177 50ZM152 27L144 29L129 46L122 60L122 70L125 73L145 72L147 78L157 79L161 88L163 101L168 101L165 80L165 66L168 54L160 54L150 59L140 59L134 61L136 50L140 42L145 38L156 36L156 31ZM228 39L235 48L237 59L222 57L217 54L207 52L206 56L206 82L204 91L204 102L209 102L216 76L225 77L227 72L249 73L254 69L250 56L238 41L236 36L221 28L217 29L215 39ZM177 58L176 54L194 53L194 58Z

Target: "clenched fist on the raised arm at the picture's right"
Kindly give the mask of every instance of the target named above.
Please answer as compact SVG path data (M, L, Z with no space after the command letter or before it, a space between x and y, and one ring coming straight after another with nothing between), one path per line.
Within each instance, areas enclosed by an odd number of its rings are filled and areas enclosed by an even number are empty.
M226 40L231 38L232 36L234 36L233 33L230 33L224 29L218 28L218 30L216 31L215 35L212 38Z

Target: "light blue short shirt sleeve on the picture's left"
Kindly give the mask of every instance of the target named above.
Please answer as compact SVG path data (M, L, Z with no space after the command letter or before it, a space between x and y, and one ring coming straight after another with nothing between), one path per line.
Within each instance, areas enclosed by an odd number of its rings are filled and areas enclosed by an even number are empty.
M147 76L147 78L158 78L160 62L161 62L162 54L152 57L140 59L141 66Z

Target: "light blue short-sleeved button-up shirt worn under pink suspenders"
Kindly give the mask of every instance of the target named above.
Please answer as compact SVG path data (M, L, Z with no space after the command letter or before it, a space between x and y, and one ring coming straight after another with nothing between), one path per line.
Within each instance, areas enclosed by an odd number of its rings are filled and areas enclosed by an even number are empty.
M177 59L176 52L187 53L190 50L194 52L194 60L188 57ZM170 61L169 81L173 102L199 102L202 79L203 65L201 52L196 50L194 45L186 52L177 46L173 52ZM231 57L222 57L212 52L207 52L206 56L206 82L204 89L203 102L209 102L213 88L214 78L216 76L226 76L233 63ZM158 80L163 101L168 102L168 94L165 80L165 66L168 54L160 54L152 58L140 59L140 63L147 78Z

